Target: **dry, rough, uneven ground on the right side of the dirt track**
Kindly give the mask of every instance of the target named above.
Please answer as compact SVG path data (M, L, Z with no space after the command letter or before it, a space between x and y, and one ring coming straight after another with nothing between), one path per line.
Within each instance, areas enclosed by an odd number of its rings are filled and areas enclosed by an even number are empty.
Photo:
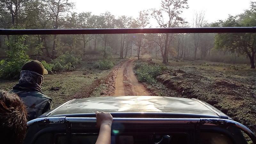
M161 60L146 61L162 65ZM220 109L256 132L255 69L246 65L196 61L169 61L157 76L157 84L146 84L154 95L196 98Z

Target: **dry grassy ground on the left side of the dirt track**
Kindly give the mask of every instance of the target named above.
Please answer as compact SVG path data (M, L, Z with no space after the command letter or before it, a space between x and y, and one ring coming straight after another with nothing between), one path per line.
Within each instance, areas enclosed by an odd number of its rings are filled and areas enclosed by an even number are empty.
M104 89L104 79L111 74L111 69L100 70L94 64L102 60L101 55L87 55L77 65L76 71L53 73L44 76L42 90L51 97L54 107L74 98L95 96L95 90ZM112 59L117 65L121 59L115 56ZM0 80L0 89L10 91L18 83L18 80ZM100 94L100 93L99 93Z

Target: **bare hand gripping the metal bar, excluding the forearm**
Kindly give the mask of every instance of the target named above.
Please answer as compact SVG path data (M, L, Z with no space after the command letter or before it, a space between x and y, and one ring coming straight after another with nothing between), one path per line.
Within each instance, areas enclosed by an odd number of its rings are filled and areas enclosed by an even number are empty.
M96 112L96 124L100 128L102 125L112 125L113 117L110 113Z

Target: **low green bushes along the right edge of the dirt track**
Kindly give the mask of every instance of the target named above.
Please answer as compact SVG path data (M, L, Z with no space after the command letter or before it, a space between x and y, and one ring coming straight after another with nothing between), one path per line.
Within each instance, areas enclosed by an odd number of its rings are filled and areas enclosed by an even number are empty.
M144 63L135 63L135 75L139 82L156 83L155 77L159 76L167 68L163 66L151 66Z

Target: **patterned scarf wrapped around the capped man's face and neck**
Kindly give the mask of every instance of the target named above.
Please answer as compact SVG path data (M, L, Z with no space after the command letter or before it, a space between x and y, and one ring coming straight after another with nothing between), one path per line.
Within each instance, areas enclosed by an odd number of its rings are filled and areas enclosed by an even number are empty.
M44 76L28 70L20 72L19 83L14 85L14 90L35 90L42 93L41 84L44 81Z

